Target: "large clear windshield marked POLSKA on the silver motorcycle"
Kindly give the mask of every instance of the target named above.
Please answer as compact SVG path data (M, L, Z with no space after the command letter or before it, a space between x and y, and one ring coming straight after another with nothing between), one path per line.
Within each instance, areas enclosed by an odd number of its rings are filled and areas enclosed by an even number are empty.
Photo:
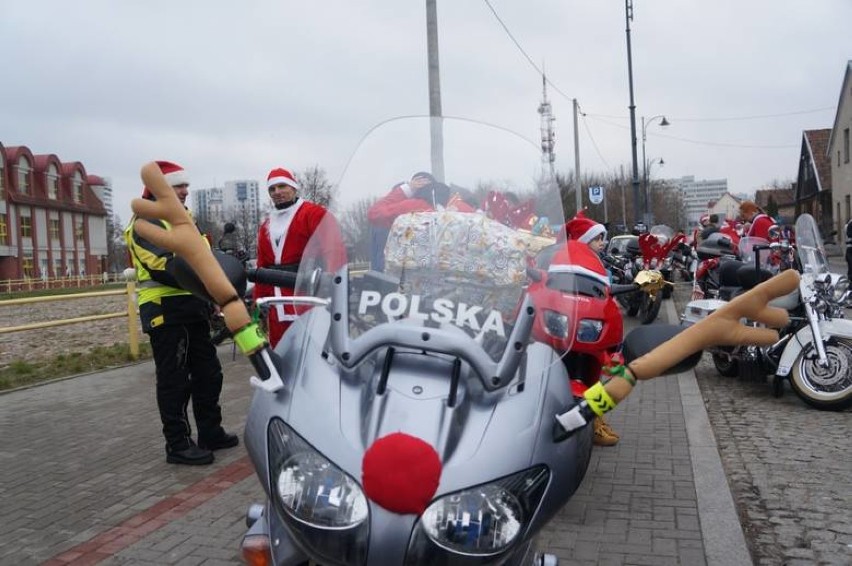
M469 120L388 120L350 158L296 294L329 300L340 360L395 345L496 362L529 337L527 267L564 222L534 142Z

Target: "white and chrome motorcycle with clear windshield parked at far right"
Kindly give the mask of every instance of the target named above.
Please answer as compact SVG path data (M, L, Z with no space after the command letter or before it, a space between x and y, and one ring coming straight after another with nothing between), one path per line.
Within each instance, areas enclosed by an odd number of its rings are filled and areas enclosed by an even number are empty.
M747 242L745 247L751 249L741 249L748 260L737 272L743 289L771 275L768 254L762 255L770 246L754 244ZM799 290L774 302L790 312L790 324L781 331L779 341L769 347L720 348L711 354L714 361L724 359L737 367L740 375L773 375L776 395L789 379L793 391L808 405L842 410L852 406L852 321L844 318L849 280L829 270L819 229L809 214L796 221L796 250L802 267ZM691 301L682 321L695 323L724 304L717 299Z

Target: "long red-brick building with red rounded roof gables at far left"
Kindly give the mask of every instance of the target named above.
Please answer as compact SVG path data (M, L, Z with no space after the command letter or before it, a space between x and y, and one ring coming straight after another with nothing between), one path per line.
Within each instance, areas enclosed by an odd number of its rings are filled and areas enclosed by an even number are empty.
M104 184L78 161L0 143L0 280L105 271Z

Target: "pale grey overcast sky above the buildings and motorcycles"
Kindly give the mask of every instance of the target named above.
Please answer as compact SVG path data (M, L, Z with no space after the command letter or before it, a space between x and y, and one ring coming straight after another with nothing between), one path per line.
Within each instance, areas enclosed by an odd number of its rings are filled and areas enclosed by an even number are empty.
M556 166L631 167L623 0L438 0L445 115L539 138L553 84ZM802 131L830 128L852 0L634 0L633 76L654 177L793 180ZM0 0L0 142L112 179L177 161L192 188L323 167L378 121L428 114L425 0ZM639 160L641 162L641 132Z

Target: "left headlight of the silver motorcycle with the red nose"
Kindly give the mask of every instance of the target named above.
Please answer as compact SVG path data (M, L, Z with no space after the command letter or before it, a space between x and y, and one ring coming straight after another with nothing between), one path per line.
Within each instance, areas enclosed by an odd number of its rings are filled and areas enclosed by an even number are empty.
M358 482L280 419L267 440L271 499L294 539L322 563L364 564L369 506Z

